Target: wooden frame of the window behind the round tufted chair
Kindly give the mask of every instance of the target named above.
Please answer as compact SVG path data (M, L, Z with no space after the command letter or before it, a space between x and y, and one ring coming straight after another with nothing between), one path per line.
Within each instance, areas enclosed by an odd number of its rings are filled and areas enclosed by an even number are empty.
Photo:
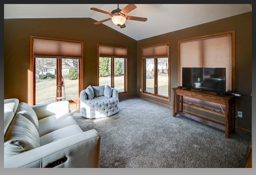
M111 58L111 85L114 84L114 58L124 58L124 91L118 91L118 95L127 95L128 94L128 46L118 46L118 45L111 45L111 44L97 44L97 86L100 84L100 46L108 46L108 47L114 47L114 48L126 48L127 50L127 56L104 56L106 58Z

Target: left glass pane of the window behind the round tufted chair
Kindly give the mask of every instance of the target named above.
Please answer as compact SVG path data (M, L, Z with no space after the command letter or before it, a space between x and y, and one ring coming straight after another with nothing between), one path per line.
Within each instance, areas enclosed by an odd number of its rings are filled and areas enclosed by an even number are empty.
M111 87L111 58L99 58L99 86Z

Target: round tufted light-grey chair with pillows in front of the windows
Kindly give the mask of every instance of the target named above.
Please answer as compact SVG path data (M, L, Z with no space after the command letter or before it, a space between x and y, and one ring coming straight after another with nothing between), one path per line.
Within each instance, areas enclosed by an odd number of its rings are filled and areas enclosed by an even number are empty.
M102 118L118 113L118 90L110 86L88 86L80 92L80 115Z

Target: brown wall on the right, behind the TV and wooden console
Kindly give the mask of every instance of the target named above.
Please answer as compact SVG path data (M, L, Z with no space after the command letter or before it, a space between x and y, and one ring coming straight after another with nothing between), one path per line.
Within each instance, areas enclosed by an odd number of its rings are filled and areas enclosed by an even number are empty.
M137 42L137 94L172 106L172 89L171 100L164 101L154 97L142 95L142 58L141 47L163 42L170 42L170 84L171 88L178 86L178 40L203 36L219 32L235 30L236 35L236 93L242 94L236 97L236 113L243 112L243 117L236 118L236 126L243 129L252 130L252 12L216 20L206 24L185 28L182 30L146 38ZM200 115L208 115L207 113L199 113ZM208 116L211 117L211 116Z

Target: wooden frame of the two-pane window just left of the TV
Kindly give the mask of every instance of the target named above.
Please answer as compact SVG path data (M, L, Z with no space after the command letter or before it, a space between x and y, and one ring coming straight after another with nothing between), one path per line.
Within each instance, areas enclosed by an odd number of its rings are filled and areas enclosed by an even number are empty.
M158 62L157 59L158 58L167 58L167 57L161 57L161 56L143 56L143 49L145 48L150 48L150 47L157 47L157 46L161 46L161 45L167 45L168 46L168 97L163 96L158 94L158 72L157 72L157 68L158 68ZM151 97L155 97L158 99L162 99L165 101L170 101L170 84L171 84L171 80L170 80L170 42L164 42L164 43L160 43L160 44L154 44L154 45L149 45L149 46L142 46L142 94L143 95L147 95L147 96L151 96ZM154 58L154 93L148 93L147 91L145 91L145 83L146 83L146 59L147 58ZM157 86L155 86L157 85Z

